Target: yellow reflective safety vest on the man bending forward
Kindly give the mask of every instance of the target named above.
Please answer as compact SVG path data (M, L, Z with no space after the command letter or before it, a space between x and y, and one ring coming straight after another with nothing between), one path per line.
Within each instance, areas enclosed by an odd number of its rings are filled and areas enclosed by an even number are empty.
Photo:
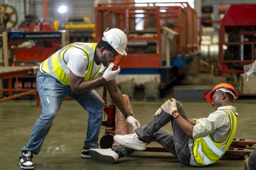
M46 59L42 63L42 71L46 72L53 78L59 80L62 84L70 85L69 82L69 72L70 69L67 66L67 63L64 61L63 56L67 50L69 50L72 47L80 48L84 53L88 56L88 67L86 70L86 76L84 77L84 81L89 81L95 79L99 72L104 71L106 67L100 64L100 67L96 74L94 76L91 76L92 74L92 68L94 63L94 54L96 51L96 45L97 43L82 43L82 42L76 42L69 44L63 48L61 48L59 51L51 55L48 59ZM70 56L72 57L72 56Z

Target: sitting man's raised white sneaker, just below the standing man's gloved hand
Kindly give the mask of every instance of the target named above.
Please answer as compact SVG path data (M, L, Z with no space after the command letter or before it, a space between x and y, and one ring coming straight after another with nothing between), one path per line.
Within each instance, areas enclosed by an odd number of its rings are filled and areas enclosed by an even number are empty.
M114 140L127 148L132 148L138 151L146 150L146 142L139 140L139 137L136 133L128 135L115 135Z

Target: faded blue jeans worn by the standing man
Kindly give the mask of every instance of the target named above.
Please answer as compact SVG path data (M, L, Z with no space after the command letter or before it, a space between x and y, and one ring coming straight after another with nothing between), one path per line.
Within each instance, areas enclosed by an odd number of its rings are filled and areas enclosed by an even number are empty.
M85 93L74 94L70 86L61 84L58 80L48 74L43 74L40 70L37 72L36 83L42 105L42 114L37 119L29 142L22 149L22 152L32 151L35 155L40 152L42 143L51 129L53 120L66 96L76 100L89 112L87 137L84 140L84 147L98 148L98 136L104 109L104 101L98 93L95 90L90 90Z

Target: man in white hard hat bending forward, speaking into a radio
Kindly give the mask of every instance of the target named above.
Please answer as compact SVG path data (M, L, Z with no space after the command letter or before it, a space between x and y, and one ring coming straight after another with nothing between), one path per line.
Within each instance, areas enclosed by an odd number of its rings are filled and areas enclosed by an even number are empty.
M91 158L89 150L98 148L101 117L104 101L94 90L98 85L105 83L111 99L123 113L127 123L134 129L140 123L129 111L115 78L120 67L112 70L117 55L127 55L125 47L127 37L117 28L103 33L98 43L72 43L50 56L40 64L36 83L40 95L42 114L37 119L28 144L22 149L19 156L19 165L22 169L33 169L33 154L40 152L42 143L48 134L53 119L66 96L76 100L89 112L86 139L81 157Z

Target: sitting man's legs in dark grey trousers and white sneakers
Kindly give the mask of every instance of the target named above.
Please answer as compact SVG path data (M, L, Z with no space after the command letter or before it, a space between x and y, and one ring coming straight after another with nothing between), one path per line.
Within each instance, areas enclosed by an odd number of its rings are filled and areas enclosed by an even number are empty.
M179 113L187 119L185 110L178 101L177 109ZM160 129L170 121L172 122L174 135L171 132ZM147 125L136 129L134 134L116 135L114 139L121 145L113 149L93 149L90 151L90 154L92 152L92 157L101 162L114 163L117 158L132 153L134 151L133 149L145 150L147 143L156 140L168 152L174 154L182 163L189 164L190 161L188 148L189 137L179 128L175 120L164 111L162 114L153 118Z

